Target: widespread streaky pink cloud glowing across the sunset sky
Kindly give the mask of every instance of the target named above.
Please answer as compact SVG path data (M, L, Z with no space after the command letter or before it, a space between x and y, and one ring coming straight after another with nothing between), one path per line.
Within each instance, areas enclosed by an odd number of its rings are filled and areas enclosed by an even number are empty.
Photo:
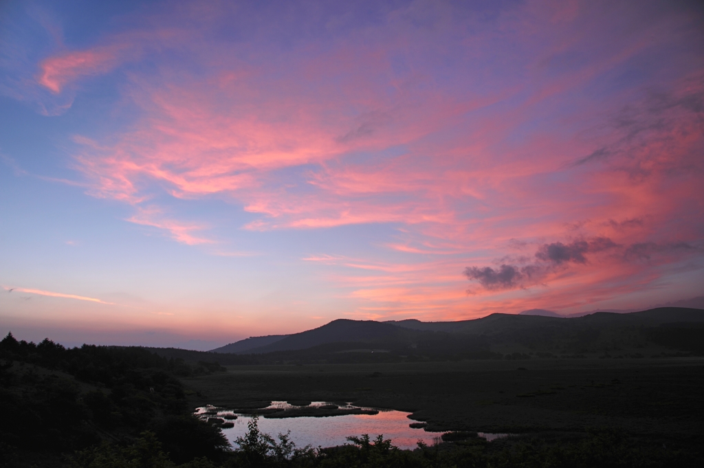
M467 317L518 303L576 307L575 291L639 291L657 269L624 260L628 248L701 236L685 212L704 205L703 73L682 65L686 79L655 70L646 84L604 91L611 73L677 49L682 38L665 32L686 18L627 30L620 23L632 21L628 14L588 7L528 2L502 13L494 29L455 18L451 6L402 8L324 46L285 50L263 39L256 47L185 34L190 68L148 51L144 32L132 42L107 40L132 44L159 66L132 70L125 92L139 117L98 141L77 137L76 167L89 194L133 205L130 222L189 245L213 242L194 234L208 227L166 219L157 199L219 197L256 215L242 226L253 231L394 224L396 237L377 247L402 260L305 259L333 270L330 280L348 288L360 311ZM467 24L479 33L467 34ZM122 50L48 58L39 82L58 93L118 67ZM636 219L630 229L610 222ZM543 245L599 237L622 246L618 254L559 267L535 258ZM512 239L527 247L511 248ZM650 248L651 265L686 258ZM530 281L491 291L461 275L465 267L538 264Z

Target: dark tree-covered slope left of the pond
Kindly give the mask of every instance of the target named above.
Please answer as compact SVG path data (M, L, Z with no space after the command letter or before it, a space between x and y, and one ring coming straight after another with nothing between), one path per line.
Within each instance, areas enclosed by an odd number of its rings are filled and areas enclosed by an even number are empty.
M177 462L219 453L227 441L190 414L179 377L220 370L144 348L67 349L8 334L0 341L0 466L52 466L103 441L130 445L144 431Z

